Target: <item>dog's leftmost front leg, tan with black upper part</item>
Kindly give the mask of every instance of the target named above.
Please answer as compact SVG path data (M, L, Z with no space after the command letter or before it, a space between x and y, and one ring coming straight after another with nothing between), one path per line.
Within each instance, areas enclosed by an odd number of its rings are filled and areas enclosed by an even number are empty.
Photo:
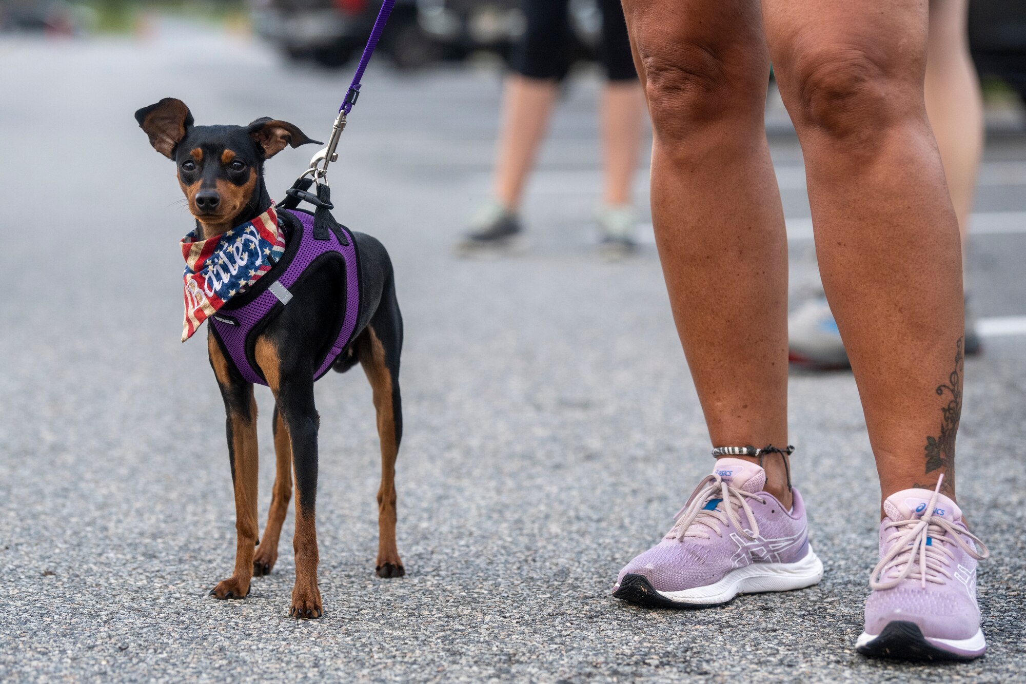
M225 401L228 455L235 488L235 572L210 594L219 599L244 599L249 594L256 544L256 402L253 386L231 367L213 335L207 335L210 365Z

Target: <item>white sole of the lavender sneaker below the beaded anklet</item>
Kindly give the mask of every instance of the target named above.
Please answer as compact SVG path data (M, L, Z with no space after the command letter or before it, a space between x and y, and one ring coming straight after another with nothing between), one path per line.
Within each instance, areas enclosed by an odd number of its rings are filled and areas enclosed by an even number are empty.
M726 603L739 594L790 592L818 584L823 579L823 563L813 552L794 563L753 563L726 573L718 582L681 592L656 592L673 603L710 606Z

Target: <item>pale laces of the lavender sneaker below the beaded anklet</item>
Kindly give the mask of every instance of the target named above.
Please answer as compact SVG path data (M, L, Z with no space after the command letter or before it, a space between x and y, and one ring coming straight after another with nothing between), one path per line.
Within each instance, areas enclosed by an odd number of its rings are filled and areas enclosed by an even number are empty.
M760 503L765 503L765 499L761 496L732 487L718 474L708 476L699 483L684 507L674 516L676 522L670 528L668 536L672 535L674 539L685 537L708 539L709 533L703 528L712 530L718 536L723 536L720 526L725 527L729 522L743 535L749 539L755 539L759 535L759 524L746 499L756 499ZM710 506L709 503L713 501L716 503ZM718 510L720 503L723 504L722 510ZM750 531L741 525L741 519L737 511L738 504L741 504L741 508L748 516L748 522L752 526Z

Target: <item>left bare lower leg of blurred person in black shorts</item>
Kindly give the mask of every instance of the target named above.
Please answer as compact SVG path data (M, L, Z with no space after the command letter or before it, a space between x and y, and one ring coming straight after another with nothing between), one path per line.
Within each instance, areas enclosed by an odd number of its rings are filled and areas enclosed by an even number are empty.
M496 163L496 197L516 211L538 147L556 102L555 81L511 74L503 96L503 120Z

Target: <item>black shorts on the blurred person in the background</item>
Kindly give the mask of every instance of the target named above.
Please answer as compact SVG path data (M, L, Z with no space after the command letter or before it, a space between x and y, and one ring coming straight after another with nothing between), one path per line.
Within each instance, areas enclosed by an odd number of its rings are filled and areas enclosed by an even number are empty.
M521 0L527 27L510 54L510 68L528 78L561 80L570 68L569 0ZM598 0L602 10L599 61L610 81L637 79L620 0Z

